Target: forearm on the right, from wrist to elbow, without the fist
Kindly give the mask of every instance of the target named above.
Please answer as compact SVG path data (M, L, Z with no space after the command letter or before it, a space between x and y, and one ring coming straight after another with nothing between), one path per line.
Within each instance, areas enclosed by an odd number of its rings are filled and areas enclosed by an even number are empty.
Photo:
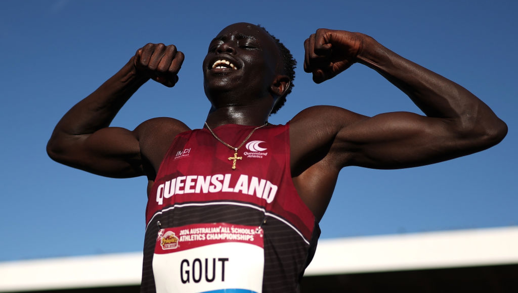
M450 119L462 128L505 125L478 97L457 83L402 58L370 37L366 43L358 62L405 92L428 117Z

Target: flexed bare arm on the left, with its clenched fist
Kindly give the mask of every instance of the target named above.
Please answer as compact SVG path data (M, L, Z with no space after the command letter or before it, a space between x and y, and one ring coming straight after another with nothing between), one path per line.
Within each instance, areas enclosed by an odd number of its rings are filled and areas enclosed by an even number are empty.
M57 123L47 144L50 158L108 177L145 175L134 131L108 127L121 107L149 79L173 87L184 55L174 45L147 44L97 90L72 107Z

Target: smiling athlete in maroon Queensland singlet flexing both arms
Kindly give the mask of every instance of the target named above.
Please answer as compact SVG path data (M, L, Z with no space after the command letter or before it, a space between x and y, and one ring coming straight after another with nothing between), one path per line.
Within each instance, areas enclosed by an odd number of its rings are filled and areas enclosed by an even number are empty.
M109 127L149 79L177 82L184 55L163 44L139 49L56 125L52 159L103 176L148 177L142 292L297 292L342 168L431 164L506 135L476 96L369 36L320 29L304 46L316 83L361 63L426 116L314 106L286 125L268 124L291 91L294 63L264 29L236 23L211 41L203 62L211 103L203 129L173 118L133 131Z

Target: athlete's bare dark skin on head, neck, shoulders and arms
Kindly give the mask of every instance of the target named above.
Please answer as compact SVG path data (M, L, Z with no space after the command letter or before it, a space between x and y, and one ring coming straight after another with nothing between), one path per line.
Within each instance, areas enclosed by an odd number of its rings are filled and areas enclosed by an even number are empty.
M426 114L367 117L340 107L314 106L293 117L293 183L318 220L346 166L398 169L436 163L491 147L507 133L506 124L469 91L367 35L319 29L304 46L304 69L316 83L361 63L405 92ZM150 119L133 131L109 124L149 79L173 87L183 58L174 45L147 44L137 50L118 73L57 123L47 146L49 156L103 176L146 175L149 192L172 140L189 128L173 118ZM221 59L234 68L212 68ZM229 25L211 41L203 72L210 128L264 124L290 85L274 39L248 23Z

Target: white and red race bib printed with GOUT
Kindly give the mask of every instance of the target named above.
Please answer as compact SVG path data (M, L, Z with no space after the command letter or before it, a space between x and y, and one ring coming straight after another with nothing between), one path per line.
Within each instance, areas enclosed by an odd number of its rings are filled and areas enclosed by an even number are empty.
M157 293L261 293L263 230L226 223L159 230L153 256Z

